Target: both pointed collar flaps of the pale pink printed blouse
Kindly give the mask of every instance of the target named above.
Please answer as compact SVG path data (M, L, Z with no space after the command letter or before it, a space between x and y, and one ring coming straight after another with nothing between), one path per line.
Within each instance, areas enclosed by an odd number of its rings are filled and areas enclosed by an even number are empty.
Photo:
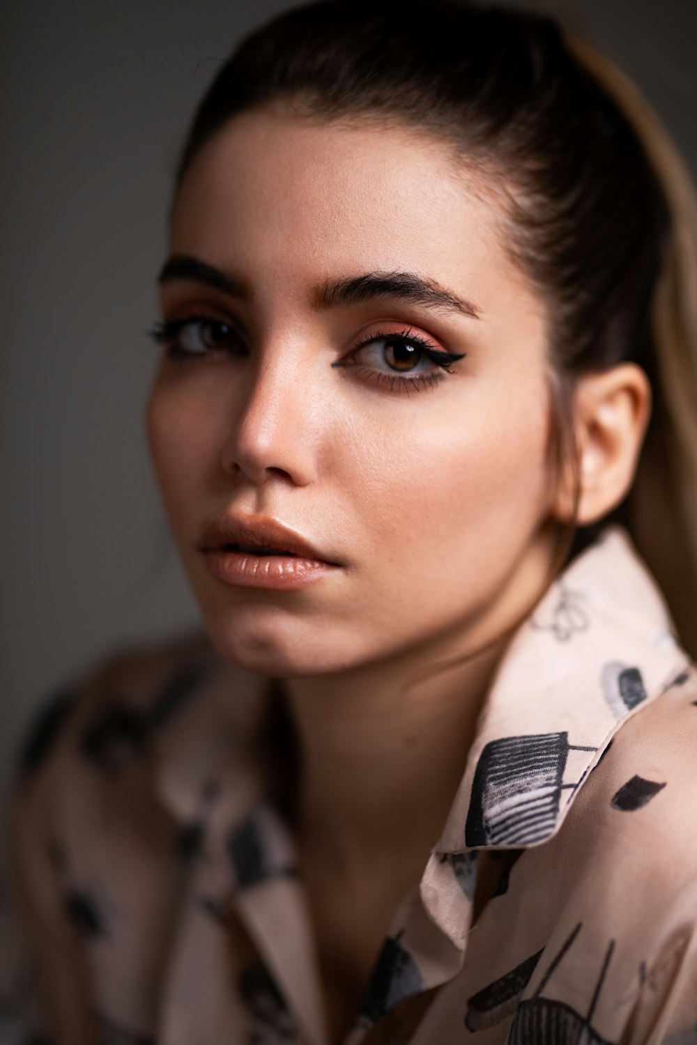
M687 664L628 535L606 529L509 644L435 852L550 838L622 722ZM269 792L269 680L233 671L211 654L198 699L155 740L156 788L185 825L205 817L229 831Z

